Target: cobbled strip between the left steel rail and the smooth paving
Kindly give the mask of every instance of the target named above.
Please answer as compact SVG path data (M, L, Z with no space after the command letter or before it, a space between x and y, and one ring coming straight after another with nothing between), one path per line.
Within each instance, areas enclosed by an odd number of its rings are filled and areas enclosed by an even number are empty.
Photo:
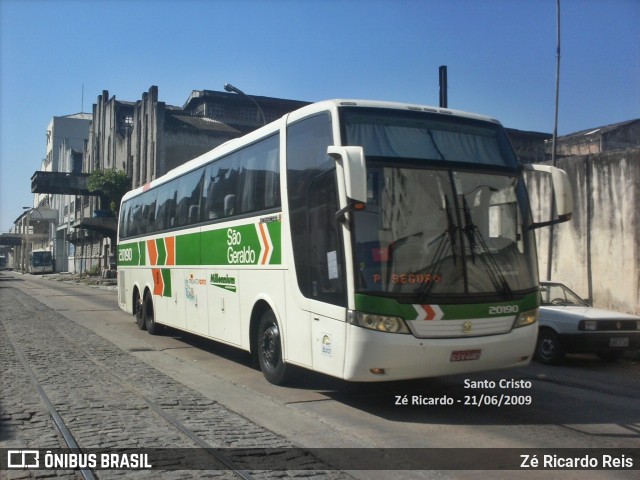
M278 450L284 452L289 457L286 461L295 452L300 458L294 463L310 478L348 477L282 437L142 364L24 293L14 289L6 293L3 296L12 297L7 300L20 310L14 315L0 315L6 339L70 451L197 450L199 458L210 457L208 465L219 465L211 468L217 471L215 475L208 471L204 476L248 480L272 478L271 472L260 469L256 454L267 447L276 455ZM187 465L167 461L162 468L184 470L182 473L196 478L203 475ZM102 479L113 478L117 472L97 469L81 473L85 479ZM145 472L134 473L144 476ZM145 478L155 478L159 471L146 473L151 476ZM278 476L289 475L279 472Z

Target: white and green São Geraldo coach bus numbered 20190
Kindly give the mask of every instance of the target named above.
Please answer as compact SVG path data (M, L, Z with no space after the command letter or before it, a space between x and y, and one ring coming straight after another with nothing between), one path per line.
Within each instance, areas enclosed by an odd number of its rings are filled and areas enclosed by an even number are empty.
M550 173L570 217L566 175ZM292 367L353 381L526 365L538 272L525 168L499 122L331 100L125 195L119 304Z

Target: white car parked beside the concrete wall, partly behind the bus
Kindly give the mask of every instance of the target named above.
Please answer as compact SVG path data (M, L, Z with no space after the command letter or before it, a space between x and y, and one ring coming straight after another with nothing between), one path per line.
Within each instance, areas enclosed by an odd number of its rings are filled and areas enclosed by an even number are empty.
M541 282L535 358L555 365L565 353L595 353L603 360L640 350L640 317L600 310L562 283Z

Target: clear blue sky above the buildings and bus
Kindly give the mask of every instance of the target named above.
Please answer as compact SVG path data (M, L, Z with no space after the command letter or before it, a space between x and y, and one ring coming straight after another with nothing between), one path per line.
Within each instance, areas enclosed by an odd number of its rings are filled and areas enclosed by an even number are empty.
M54 116L156 85L449 107L552 133L556 0L0 0L0 231ZM561 0L558 134L640 118L640 1Z

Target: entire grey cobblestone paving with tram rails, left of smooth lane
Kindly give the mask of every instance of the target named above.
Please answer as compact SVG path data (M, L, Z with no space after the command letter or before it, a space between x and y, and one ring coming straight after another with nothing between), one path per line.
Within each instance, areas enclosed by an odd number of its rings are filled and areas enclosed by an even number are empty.
M81 449L167 449L163 464L180 465L180 449L198 447L162 415L177 419L213 448L286 449L293 445L283 437L250 422L215 400L191 390L87 328L70 321L29 296L12 283L23 278L3 276L0 281L0 425L2 448L62 448L51 417L36 394L21 358L25 359L55 409L64 419ZM88 288L88 287L87 287ZM175 452L175 458L171 458ZM308 468L315 459L300 454ZM340 472L306 471L313 478L345 478ZM255 464L253 465L255 469ZM0 472L5 473L5 472ZM26 472L29 473L29 472ZM52 472L49 472L52 473ZM56 476L76 478L72 471ZM24 472L9 471L10 478ZM103 470L99 478L119 478L121 472ZM128 472L127 476L130 476ZM136 472L156 478L158 471ZM171 471L170 478L234 478L226 470ZM272 472L253 472L254 478L271 478ZM286 473L278 475L288 476Z

